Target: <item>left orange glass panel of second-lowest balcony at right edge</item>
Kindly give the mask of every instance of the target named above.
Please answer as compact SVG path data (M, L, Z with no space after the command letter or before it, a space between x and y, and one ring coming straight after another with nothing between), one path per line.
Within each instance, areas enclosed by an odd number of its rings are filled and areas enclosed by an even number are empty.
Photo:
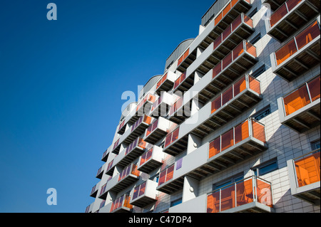
M293 112L300 110L302 107L305 107L310 103L307 87L304 85L290 95L283 97L283 102L286 115L290 115Z

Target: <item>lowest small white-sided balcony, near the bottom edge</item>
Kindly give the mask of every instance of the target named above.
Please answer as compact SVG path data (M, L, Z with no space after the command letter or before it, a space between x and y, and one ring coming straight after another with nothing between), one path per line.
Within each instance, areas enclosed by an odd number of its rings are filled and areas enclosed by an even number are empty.
M153 204L158 199L156 190L157 182L148 180L137 186L131 196L130 204L133 206L144 207Z

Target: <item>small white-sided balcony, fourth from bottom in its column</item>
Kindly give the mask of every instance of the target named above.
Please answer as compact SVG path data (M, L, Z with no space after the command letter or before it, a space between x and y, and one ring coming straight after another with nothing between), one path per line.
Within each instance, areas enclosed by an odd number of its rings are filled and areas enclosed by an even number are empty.
M153 103L151 107L150 116L153 117L165 117L168 113L168 109L173 102L173 95L162 92L158 99Z

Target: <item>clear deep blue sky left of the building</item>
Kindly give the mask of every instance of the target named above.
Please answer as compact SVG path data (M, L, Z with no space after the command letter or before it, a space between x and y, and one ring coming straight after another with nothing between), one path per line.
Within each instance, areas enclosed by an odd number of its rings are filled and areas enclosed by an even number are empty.
M57 21L46 19L50 2ZM212 4L1 1L0 212L84 212L121 94L162 74ZM57 206L46 204L49 188Z

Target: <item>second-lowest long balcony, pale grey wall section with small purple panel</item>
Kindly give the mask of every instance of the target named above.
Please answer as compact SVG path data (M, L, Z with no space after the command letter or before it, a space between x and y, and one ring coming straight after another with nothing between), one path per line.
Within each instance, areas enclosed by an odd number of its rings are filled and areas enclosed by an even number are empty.
M163 170L157 190L172 194L183 188L184 176L201 180L266 149L264 125L250 118Z

